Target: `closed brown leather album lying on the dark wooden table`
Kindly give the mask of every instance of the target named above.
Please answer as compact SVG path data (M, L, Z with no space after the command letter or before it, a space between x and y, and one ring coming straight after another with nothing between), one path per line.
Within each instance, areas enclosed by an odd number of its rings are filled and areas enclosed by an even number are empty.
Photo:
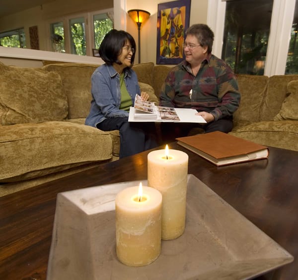
M268 157L268 147L215 131L176 138L177 144L202 156L217 166Z

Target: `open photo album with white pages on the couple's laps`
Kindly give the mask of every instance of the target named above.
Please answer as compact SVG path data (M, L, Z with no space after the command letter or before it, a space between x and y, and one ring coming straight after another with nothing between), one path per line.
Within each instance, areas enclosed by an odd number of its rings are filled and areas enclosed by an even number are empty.
M140 95L136 95L135 104L130 108L128 120L206 123L205 119L196 113L195 109L157 106L154 102L144 101Z

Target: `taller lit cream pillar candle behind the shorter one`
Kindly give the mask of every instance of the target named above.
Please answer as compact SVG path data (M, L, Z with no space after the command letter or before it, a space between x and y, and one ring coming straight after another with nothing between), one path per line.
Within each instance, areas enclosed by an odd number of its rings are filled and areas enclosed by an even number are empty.
M161 239L179 237L185 229L188 155L177 150L148 154L148 185L162 194Z

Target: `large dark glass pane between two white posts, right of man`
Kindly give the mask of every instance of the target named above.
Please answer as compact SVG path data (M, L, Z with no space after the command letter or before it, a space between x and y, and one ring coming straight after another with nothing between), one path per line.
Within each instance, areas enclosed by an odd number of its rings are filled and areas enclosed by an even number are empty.
M263 75L273 0L228 1L222 59L235 73Z

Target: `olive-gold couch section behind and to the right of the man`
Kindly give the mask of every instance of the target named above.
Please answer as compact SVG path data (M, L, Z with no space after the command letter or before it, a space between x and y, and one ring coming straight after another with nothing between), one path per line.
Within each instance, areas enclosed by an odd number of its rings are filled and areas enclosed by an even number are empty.
M170 69L166 65L154 66L149 84L157 96ZM241 102L233 115L230 134L265 146L298 151L298 75L236 77Z

